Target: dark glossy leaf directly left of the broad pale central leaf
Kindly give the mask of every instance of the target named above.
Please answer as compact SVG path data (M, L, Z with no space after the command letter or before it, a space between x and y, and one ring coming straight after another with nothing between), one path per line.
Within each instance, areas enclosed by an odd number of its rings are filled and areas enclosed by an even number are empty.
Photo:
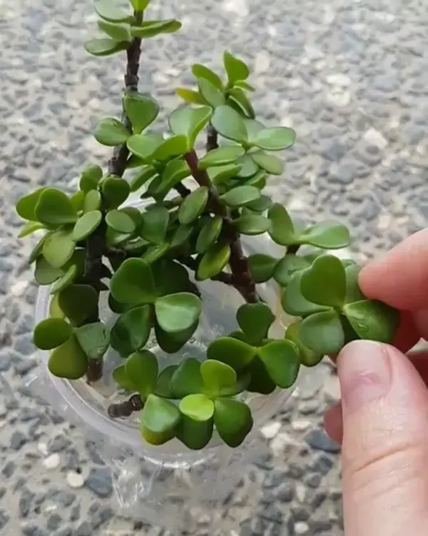
M111 347L123 357L143 348L151 332L151 320L150 304L134 307L121 314L111 329Z

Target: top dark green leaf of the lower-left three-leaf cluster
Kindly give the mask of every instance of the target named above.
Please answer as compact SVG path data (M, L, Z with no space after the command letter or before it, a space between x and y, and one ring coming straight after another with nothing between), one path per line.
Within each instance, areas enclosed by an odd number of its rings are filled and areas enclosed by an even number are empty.
M58 305L75 326L80 326L93 314L98 294L88 284L72 284L58 294Z

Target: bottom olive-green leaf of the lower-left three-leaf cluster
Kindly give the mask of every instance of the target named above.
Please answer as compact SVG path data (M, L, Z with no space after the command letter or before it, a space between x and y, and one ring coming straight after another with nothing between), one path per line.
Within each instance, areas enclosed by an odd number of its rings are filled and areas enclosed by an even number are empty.
M48 368L58 378L79 379L86 374L88 358L76 337L71 336L54 349L49 357Z

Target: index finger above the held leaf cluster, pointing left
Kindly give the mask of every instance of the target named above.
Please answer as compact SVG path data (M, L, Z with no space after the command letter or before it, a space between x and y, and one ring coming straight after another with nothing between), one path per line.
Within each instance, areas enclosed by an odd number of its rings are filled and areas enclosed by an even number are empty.
M407 311L428 308L428 229L418 231L360 272L360 288L371 299Z

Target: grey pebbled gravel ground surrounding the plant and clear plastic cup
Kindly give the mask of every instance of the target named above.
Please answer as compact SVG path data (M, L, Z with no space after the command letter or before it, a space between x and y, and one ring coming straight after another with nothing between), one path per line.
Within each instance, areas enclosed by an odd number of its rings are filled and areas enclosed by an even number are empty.
M218 68L225 47L250 61L260 116L297 131L285 177L271 184L276 199L306 219L350 224L363 261L426 225L424 1L154 4L155 18L175 14L184 25L148 41L141 86L168 109L173 87L192 84L195 61ZM24 387L36 364L36 289L13 204L36 184L71 184L83 165L106 158L91 131L118 113L123 59L88 57L82 43L94 23L89 1L0 0L1 535L160 532L118 507L111 471L81 427ZM321 427L337 396L325 367L267 423L267 454L248 475L255 505L230 498L243 520L235 534L342 534L338 448Z

